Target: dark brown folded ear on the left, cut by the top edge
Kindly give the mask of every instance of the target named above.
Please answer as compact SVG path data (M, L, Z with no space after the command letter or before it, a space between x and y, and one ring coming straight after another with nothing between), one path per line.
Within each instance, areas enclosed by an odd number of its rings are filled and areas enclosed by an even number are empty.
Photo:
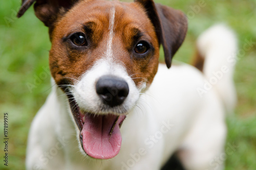
M57 19L59 12L69 10L78 0L23 0L17 17L21 17L29 7L34 3L35 15L47 27L50 27Z

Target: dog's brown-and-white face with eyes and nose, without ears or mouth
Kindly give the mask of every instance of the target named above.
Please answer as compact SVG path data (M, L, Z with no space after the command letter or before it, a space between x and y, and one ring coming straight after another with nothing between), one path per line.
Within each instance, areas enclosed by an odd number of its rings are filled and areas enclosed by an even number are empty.
M81 2L52 32L52 76L73 85L80 110L90 113L131 110L153 81L158 57L154 26L139 4Z

